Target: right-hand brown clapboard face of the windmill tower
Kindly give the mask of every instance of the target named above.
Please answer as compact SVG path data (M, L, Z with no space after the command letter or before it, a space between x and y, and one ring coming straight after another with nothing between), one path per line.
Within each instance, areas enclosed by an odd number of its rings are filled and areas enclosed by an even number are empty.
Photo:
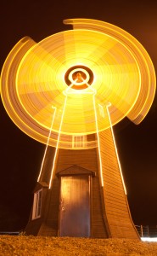
M111 129L99 132L104 205L111 237L139 239L132 223Z

